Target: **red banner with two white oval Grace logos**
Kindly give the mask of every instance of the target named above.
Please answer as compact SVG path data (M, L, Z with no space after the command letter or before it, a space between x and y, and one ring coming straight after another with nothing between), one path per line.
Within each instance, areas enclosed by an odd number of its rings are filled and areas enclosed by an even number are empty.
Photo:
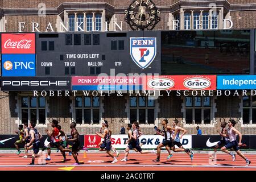
M216 75L165 75L144 79L144 90L216 90Z

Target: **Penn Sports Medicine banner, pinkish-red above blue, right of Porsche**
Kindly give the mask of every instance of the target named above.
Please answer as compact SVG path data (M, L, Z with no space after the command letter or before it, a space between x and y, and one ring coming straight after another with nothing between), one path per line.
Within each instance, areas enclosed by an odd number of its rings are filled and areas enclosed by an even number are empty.
M141 90L142 77L75 76L72 90Z

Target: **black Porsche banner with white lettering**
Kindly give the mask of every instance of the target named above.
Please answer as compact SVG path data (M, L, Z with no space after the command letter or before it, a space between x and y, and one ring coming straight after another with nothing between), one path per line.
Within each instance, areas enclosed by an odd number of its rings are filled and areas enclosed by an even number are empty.
M1 90L71 90L70 77L1 77Z

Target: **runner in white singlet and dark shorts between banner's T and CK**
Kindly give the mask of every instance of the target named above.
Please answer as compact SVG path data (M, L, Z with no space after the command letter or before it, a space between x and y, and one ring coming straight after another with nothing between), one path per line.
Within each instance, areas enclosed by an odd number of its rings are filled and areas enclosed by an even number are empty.
M121 161L127 162L127 156L129 155L129 151L132 150L132 149L136 149L141 154L149 154L149 153L156 154L156 152L154 150L152 150L152 151L142 151L141 146L139 146L138 138L142 134L142 133L139 133L139 131L138 131L139 123L134 122L133 125L132 125L132 128L133 128L133 132L131 133L129 131L129 139L126 142L128 144L128 146L126 147L126 150L125 150L125 158L121 159Z

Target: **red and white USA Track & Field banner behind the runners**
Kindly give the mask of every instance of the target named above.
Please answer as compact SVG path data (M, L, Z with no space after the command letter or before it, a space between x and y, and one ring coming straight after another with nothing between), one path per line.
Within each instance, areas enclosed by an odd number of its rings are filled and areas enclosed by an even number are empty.
M101 138L98 135L85 135L84 146L88 148L99 148L98 143L101 142ZM127 135L112 135L111 143L115 148L126 148ZM142 148L156 148L160 143L164 141L164 137L161 135L142 135L139 138L139 142L143 143ZM192 135L185 135L180 142L184 148L192 148Z

